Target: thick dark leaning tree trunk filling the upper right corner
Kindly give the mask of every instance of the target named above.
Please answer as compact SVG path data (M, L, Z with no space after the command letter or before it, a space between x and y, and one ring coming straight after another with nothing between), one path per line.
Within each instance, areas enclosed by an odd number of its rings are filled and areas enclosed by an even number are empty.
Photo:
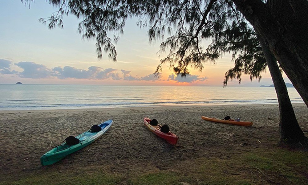
M269 46L308 107L307 0L232 0Z

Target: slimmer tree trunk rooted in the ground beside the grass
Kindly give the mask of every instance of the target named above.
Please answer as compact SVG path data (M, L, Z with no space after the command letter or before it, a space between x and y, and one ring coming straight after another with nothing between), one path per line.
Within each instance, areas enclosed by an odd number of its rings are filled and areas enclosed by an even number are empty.
M264 40L260 36L258 36L258 39L260 41L262 51L265 56L267 66L270 70L270 74L272 76L278 98L280 113L280 142L286 144L293 144L301 141L306 141L306 137L296 120L296 116L289 98L288 90L282 78L282 74L279 70L277 61Z

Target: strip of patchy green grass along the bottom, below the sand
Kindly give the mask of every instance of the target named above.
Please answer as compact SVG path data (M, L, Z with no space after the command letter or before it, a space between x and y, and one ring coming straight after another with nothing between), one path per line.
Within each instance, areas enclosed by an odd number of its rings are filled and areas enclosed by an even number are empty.
M156 165L127 166L111 173L111 167L90 166L74 170L39 171L37 175L19 175L20 179L0 184L50 185L261 185L307 184L308 152L249 148L221 155L195 158L170 164L164 170ZM141 163L140 163L141 164ZM142 165L140 165L142 166ZM112 168L113 169L113 168ZM14 177L14 175L12 176Z

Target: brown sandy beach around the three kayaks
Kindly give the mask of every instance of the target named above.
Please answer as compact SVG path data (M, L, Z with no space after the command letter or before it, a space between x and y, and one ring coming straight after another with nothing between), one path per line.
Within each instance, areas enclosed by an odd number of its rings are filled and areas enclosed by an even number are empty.
M307 135L307 107L293 107ZM229 115L254 124L212 123L202 120L201 115L221 119ZM152 134L143 125L144 117L169 125L179 137L178 144L172 146ZM54 165L41 166L40 157L67 136L81 134L108 119L114 123L97 141ZM201 157L226 158L257 148L270 150L279 140L279 109L277 104L268 104L0 111L0 126L1 182L91 166L115 173L125 173L132 167L169 170Z

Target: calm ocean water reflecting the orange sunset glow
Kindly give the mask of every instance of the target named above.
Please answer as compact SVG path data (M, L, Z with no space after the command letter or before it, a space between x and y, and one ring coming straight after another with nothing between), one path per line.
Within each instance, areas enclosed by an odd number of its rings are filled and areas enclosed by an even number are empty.
M295 88L288 92L292 103L303 102ZM270 87L0 84L0 95L0 110L278 103Z

